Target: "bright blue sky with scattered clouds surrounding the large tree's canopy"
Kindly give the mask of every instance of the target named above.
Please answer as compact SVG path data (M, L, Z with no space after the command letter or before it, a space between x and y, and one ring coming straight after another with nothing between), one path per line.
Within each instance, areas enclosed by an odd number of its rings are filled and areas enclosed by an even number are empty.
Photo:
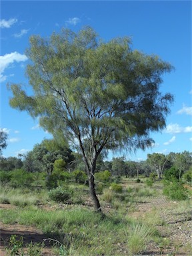
M90 25L105 41L129 36L132 48L155 53L175 67L163 76L161 91L175 103L167 128L152 133L155 144L145 152L109 154L145 160L147 153L192 151L191 1L1 1L0 127L9 135L5 157L33 149L50 138L27 113L9 107L7 83L27 85L25 49L31 35L48 37L68 27L79 31Z

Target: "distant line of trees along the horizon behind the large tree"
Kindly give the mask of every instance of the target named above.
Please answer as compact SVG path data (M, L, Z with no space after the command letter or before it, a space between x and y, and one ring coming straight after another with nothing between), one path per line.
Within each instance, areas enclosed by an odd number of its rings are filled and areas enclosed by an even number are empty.
M177 179L192 166L192 153L162 153L148 154L145 161L127 161L125 157L113 157L111 161L100 156L97 161L95 173L109 171L112 176L137 177L144 175L149 177L155 173L157 179L162 179L169 173ZM0 170L13 171L23 169L27 173L44 172L47 177L53 175L55 170L73 173L75 170L86 173L83 156L69 147L58 146L53 139L45 139L36 144L32 151L18 157L0 157Z

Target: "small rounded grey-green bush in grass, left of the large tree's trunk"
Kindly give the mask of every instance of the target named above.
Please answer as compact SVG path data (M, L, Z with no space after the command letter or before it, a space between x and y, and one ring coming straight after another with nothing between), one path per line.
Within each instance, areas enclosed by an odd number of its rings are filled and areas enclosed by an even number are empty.
M57 187L49 191L49 198L57 203L65 203L72 197L72 191L63 189L63 187Z

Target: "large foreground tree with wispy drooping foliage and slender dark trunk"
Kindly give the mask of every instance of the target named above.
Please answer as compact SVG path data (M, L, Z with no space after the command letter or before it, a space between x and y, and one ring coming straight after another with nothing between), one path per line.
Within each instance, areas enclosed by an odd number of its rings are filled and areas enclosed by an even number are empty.
M78 33L63 29L49 39L32 36L26 55L29 85L12 84L10 104L39 117L54 137L74 143L81 152L95 209L95 169L101 152L145 149L151 131L165 127L169 93L163 95L161 75L172 67L156 55L130 47L127 37L105 43L87 27Z

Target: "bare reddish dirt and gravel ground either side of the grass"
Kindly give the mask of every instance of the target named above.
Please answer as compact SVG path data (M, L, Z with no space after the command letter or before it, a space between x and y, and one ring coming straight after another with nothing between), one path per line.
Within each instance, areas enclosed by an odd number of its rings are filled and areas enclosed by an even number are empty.
M155 242L149 243L147 251L143 255L177 255L177 256L191 256L192 249L192 209L188 209L188 213L185 211L178 214L175 209L177 209L177 202L167 201L167 199L160 195L159 197L149 197L145 202L138 202L135 211L131 213L131 217L135 219L145 218L146 215L150 215L155 212L154 209L158 209L158 216L164 224L156 225L159 233L165 237L165 244L162 248L159 247ZM14 207L13 205L0 204L0 208L6 209L9 207ZM157 211L156 211L157 213ZM154 216L155 218L155 216ZM43 254L46 256L54 256L53 249L49 244L43 233L35 227L29 227L25 225L19 225L19 223L14 223L11 225L3 224L1 225L1 245L0 245L0 255L5 256L5 247L8 245L9 238L11 235L17 235L17 237L23 236L23 244L27 245L31 241L33 243L42 243L45 241L45 248L43 249ZM166 243L169 241L169 243ZM188 248L188 249L187 249ZM127 254L125 254L127 255ZM9 256L9 255L8 255ZM81 256L81 255L79 255ZM89 256L89 255L87 255ZM118 255L115 255L118 256Z

